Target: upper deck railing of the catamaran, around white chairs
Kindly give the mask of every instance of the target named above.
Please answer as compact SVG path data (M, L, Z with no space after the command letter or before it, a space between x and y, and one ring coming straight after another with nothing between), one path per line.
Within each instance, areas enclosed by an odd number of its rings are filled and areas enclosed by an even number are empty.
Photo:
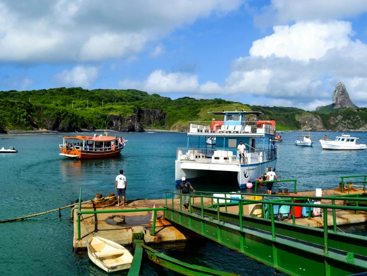
M264 121L188 121L188 133L237 133L275 135L275 126L263 124Z

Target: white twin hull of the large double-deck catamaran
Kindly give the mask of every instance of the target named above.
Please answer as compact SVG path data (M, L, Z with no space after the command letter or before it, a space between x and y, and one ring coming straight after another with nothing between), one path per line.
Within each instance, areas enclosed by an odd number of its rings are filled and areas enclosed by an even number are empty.
M264 177L271 167L275 170L276 160L254 163L254 164L239 164L239 163L199 163L194 161L176 160L176 183L181 183L184 176L187 181L196 180L199 177L204 177L211 174L211 171L233 171L237 172L237 182L240 188L246 188L246 183L250 180L255 182L256 178Z

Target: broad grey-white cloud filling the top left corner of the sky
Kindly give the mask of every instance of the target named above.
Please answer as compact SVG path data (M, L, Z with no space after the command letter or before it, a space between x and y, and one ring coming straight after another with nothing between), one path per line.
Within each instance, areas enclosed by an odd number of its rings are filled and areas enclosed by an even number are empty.
M0 0L0 61L54 62L120 58L147 41L242 0Z

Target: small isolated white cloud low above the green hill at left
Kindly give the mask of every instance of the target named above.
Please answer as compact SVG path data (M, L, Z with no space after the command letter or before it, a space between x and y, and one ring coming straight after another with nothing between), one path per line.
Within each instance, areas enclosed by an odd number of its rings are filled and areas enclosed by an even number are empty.
M71 70L64 70L52 77L53 81L65 86L80 86L89 88L98 77L96 67L75 66Z

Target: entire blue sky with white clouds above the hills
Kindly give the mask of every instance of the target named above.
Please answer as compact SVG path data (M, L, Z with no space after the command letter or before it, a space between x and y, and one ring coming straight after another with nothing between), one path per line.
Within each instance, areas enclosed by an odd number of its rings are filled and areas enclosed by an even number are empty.
M367 107L367 0L0 0L0 91Z

